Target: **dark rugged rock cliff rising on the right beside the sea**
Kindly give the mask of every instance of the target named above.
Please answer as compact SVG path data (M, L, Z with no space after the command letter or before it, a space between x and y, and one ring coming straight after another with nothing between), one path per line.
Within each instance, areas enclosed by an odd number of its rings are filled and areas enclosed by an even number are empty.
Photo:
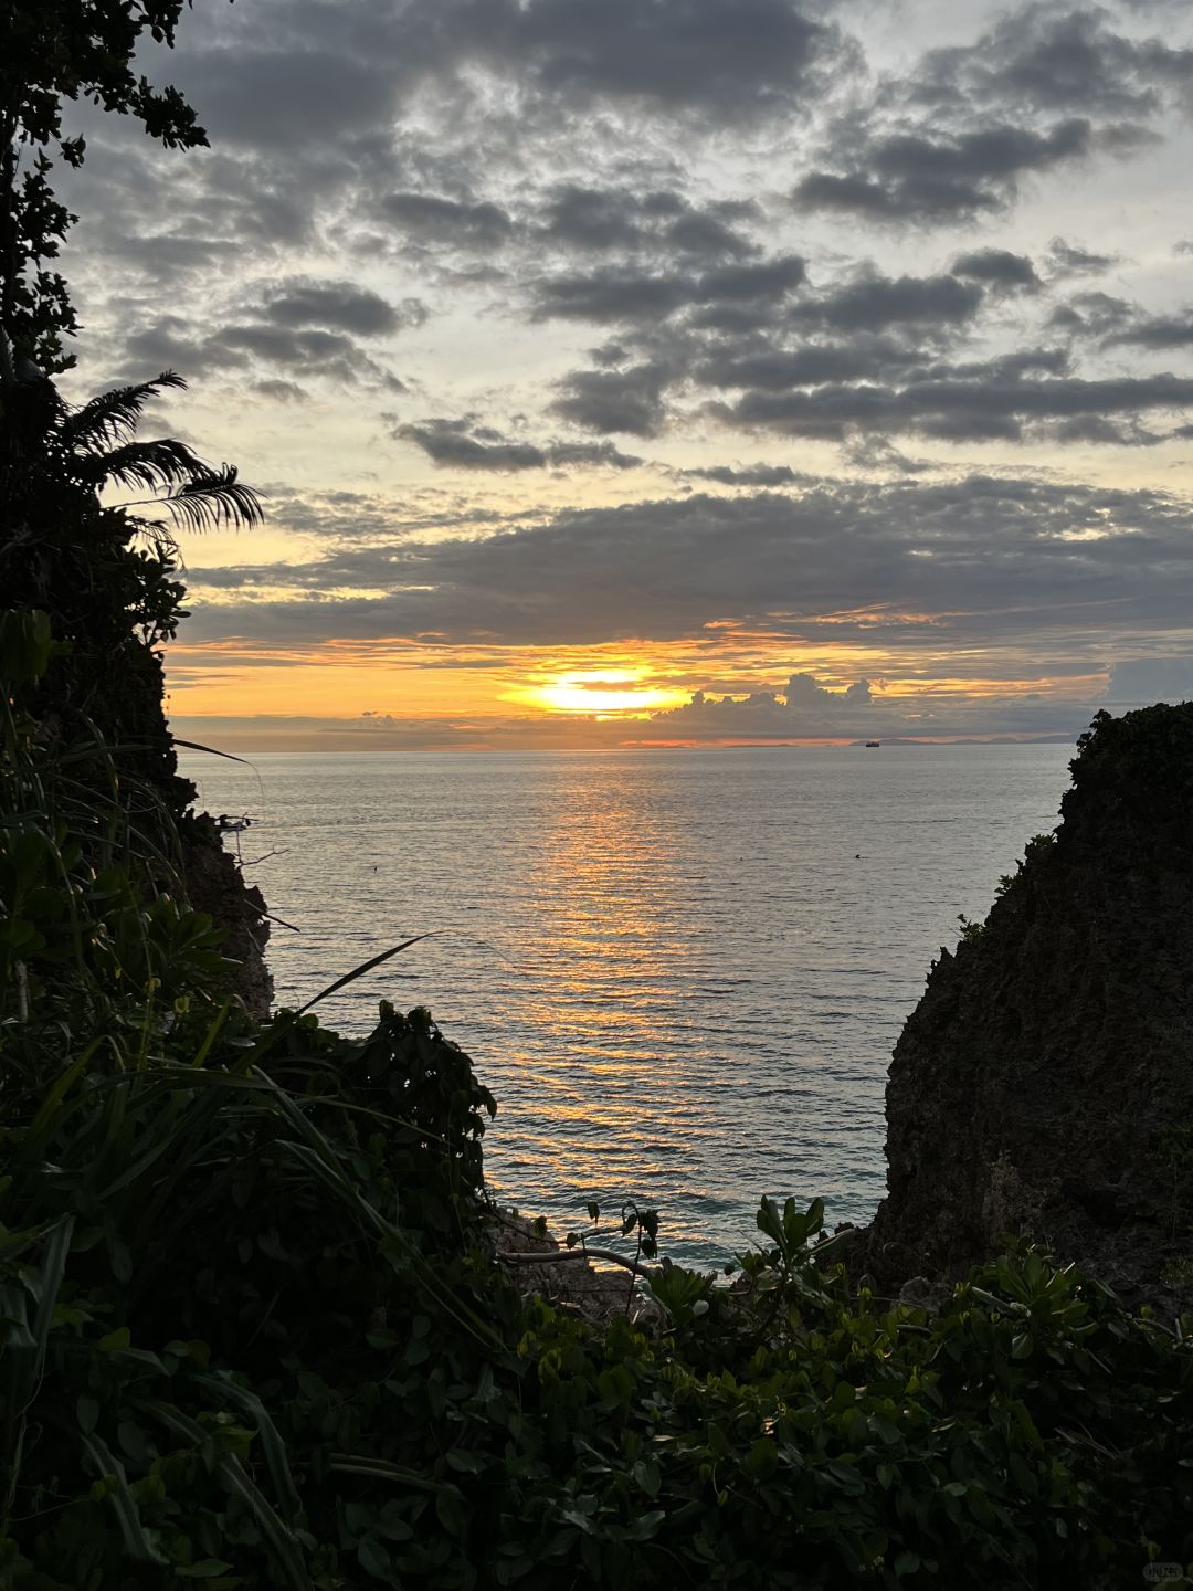
M1099 714L1072 772L896 1045L884 1286L1018 1233L1128 1297L1193 1271L1193 703Z

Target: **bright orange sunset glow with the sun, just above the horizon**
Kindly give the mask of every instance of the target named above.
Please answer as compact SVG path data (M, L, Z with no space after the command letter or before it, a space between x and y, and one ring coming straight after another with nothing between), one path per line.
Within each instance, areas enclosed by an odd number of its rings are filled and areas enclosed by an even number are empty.
M951 673L958 662L969 670ZM1102 683L1096 675L1005 671L1005 655L997 659L1004 673L983 673L975 662L983 659L950 659L924 649L915 659L900 659L892 671L889 652L865 646L821 644L800 652L791 643L779 646L765 635L727 628L698 644L689 640L487 651L407 641L285 648L237 640L197 646L180 641L170 648L167 675L178 732L205 738L204 725L210 724L213 738L234 749L345 749L359 743L361 730L380 749L385 730L398 721L407 733L417 733L420 722L450 722L452 745L460 749L495 743L511 749L786 740L838 745L870 733L783 735L773 727L751 733L748 725L741 732L708 725L686 733L682 724L660 718L682 711L698 690L738 703L764 692L783 703L792 673L814 678L841 702L854 681L870 679L876 702L907 713L899 730L903 737L951 738L935 733L931 722L931 714L950 703L1061 703L1075 694L1093 697ZM929 718L918 722L921 714ZM301 724L305 719L321 722L307 729ZM997 730L993 733L997 737Z

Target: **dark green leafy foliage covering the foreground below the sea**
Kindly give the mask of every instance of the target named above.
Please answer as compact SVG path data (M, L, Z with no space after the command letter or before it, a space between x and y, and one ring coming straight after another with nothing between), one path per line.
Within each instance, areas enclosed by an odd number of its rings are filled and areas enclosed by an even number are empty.
M488 1244L425 1012L251 1025L102 745L0 652L0 1585L1142 1583L1193 1558L1193 1349L1032 1251L932 1308L764 1203L732 1289L598 1330ZM54 667L54 665L49 665ZM113 792L113 802L116 792ZM1183 1581L1190 1583L1190 1581Z

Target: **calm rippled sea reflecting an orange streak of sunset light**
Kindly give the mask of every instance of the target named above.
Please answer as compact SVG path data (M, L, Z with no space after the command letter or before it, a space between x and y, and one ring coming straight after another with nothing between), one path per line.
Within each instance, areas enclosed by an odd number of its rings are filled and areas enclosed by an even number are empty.
M716 1263L762 1193L865 1220L891 1047L958 913L1056 823L1067 746L188 756L248 813L297 1004L429 1006L498 1098L496 1188L552 1227L635 1198ZM231 842L235 845L235 842ZM269 854L264 861L258 858Z

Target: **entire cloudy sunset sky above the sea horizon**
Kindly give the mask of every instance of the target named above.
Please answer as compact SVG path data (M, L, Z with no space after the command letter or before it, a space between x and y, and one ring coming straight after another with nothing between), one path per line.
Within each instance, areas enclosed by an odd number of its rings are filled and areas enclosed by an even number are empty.
M1193 8L194 0L76 107L224 749L1072 737L1193 695ZM68 118L70 121L70 118Z

